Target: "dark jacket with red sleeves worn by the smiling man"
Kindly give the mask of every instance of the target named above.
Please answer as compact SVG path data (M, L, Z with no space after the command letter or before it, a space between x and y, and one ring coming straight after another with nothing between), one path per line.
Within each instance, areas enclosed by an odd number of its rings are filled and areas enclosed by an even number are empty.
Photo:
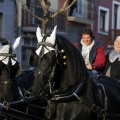
M82 52L82 44L79 45L79 50ZM89 53L89 61L90 64L93 66L93 70L103 71L105 63L106 63L106 56L104 47L100 44L100 42L95 42L93 45L90 53Z

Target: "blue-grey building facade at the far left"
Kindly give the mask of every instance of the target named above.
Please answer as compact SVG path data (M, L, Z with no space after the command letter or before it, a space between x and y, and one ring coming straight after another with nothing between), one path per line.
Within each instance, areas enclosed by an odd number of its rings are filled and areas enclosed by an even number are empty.
M14 0L0 0L0 37L12 43L17 36L17 8Z

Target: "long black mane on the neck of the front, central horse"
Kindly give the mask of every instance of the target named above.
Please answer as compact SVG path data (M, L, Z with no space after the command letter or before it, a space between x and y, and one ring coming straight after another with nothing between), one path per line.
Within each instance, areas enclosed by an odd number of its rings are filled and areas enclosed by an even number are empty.
M58 45L59 51L61 49L65 50L67 56L67 74L64 74L66 75L65 79L67 84L65 84L64 79L62 81L64 87L73 89L76 86L76 83L80 84L81 82L84 82L84 90L86 89L86 93L84 93L85 91L83 90L82 94L86 94L90 99L94 98L95 103L97 102L101 106L103 103L100 98L101 96L99 96L98 88L94 81L90 79L84 59L79 50L66 37L61 35L57 35L56 44Z

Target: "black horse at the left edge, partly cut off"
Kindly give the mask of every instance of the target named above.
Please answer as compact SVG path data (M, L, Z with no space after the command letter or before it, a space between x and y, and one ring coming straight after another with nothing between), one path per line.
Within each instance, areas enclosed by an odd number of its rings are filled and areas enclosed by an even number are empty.
M16 59L15 48L9 41L0 38L0 120L41 120L44 106L39 100L33 100L27 92L34 81L34 71L22 72ZM41 106L40 106L41 105Z

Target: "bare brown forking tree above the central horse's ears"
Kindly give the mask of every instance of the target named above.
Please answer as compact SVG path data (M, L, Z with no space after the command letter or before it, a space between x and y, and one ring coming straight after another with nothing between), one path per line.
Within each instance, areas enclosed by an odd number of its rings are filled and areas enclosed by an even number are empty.
M73 0L70 4L68 4L69 0L65 0L62 8L60 8L58 11L56 11L55 13L53 13L51 16L48 14L49 13L49 8L50 8L50 0L39 0L39 3L43 9L44 12L44 17L40 18L39 16L33 14L26 6L26 4L23 2L23 0L19 0L19 2L21 2L21 4L24 6L25 10L30 13L33 17L35 17L36 19L42 21L42 34L45 34L46 32L46 26L48 24L48 22L50 21L50 19L56 17L58 14L66 11L67 9L69 9L77 0Z

